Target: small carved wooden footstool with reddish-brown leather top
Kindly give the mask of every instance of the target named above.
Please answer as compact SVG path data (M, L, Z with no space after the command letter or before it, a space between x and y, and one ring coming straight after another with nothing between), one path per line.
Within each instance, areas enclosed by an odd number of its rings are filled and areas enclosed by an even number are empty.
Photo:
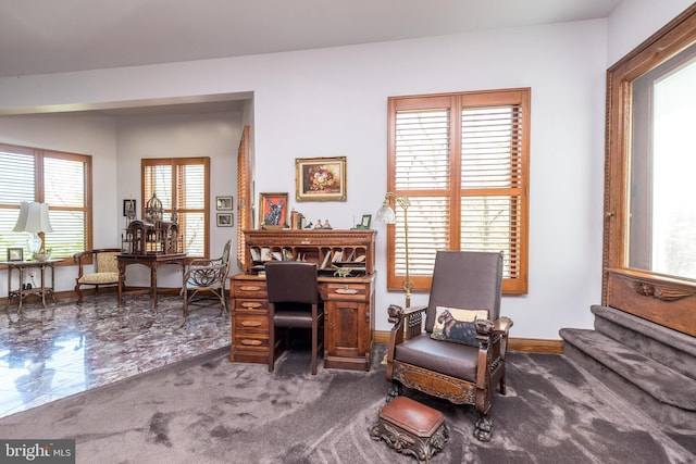
M412 454L419 463L430 463L449 439L445 416L439 411L406 397L397 397L382 411L370 431L372 439L383 439L401 454Z

